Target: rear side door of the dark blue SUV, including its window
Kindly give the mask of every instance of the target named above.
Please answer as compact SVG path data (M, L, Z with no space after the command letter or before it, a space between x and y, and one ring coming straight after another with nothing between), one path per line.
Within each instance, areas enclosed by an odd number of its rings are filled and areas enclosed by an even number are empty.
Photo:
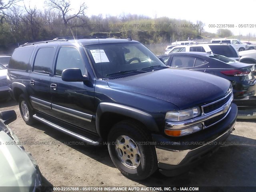
M53 61L56 47L41 47L33 60L28 92L32 106L49 114L51 112L50 79L53 75Z

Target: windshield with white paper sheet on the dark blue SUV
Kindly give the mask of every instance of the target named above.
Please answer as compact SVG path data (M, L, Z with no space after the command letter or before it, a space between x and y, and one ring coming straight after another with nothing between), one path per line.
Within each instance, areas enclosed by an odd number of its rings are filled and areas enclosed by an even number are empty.
M166 67L141 43L108 43L84 46L98 78L120 72L147 72Z

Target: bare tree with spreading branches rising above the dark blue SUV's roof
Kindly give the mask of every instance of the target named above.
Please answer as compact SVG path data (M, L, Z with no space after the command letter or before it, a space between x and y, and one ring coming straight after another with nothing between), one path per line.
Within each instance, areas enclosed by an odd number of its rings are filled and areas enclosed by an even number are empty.
M73 16L69 16L69 12L72 10L70 8L70 0L47 0L46 5L59 11L62 14L62 20L64 22L65 26L68 26L68 21L70 21L73 18L80 18L80 15L84 15L84 11L87 9L87 6L85 3L80 4L80 8L76 14Z

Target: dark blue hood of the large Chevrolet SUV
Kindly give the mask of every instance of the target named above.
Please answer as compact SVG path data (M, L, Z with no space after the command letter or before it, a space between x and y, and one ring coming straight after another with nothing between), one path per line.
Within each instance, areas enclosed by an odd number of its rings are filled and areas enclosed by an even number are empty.
M158 98L182 110L224 97L230 88L230 82L204 72L168 68L123 78L110 78L108 86Z

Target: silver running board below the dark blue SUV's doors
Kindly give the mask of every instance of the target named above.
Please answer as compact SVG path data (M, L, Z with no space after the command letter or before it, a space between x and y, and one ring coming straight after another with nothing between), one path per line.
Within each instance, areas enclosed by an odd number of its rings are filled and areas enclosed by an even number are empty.
M77 134L75 132L67 130L67 129L65 129L65 128L61 127L61 126L58 126L58 125L56 125L56 124L54 124L54 123L52 123L52 122L50 122L50 121L48 121L48 120L46 120L46 119L44 119L42 117L36 116L36 114L33 115L33 118L38 120L38 121L40 121L40 122L42 122L42 123L44 123L44 124L46 124L46 125L48 125L48 126L50 126L50 127L52 127L52 128L54 128L54 129L60 130L61 132L64 132L65 134L73 136L73 137L75 137L75 138L77 138L79 140L82 140L84 142L90 143L92 145L99 145L100 144L98 141L93 141L93 140L91 140L89 138L81 136L80 134Z

